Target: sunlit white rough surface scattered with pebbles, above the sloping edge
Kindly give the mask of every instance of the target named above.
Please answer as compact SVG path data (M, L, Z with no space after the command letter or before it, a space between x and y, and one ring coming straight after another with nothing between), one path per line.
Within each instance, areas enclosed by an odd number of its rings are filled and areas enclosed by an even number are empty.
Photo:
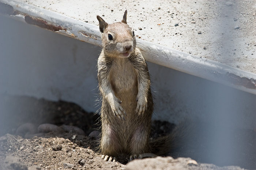
M128 24L135 29L137 38L256 73L254 0L75 0L72 3L28 0L25 3L94 25L98 25L96 15L109 23L121 21L127 9Z

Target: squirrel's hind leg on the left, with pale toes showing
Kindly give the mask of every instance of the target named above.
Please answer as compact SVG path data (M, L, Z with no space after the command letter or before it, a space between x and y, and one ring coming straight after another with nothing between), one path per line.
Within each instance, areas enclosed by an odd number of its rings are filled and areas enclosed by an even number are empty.
M113 128L111 128L109 124L102 127L100 149L102 159L105 161L116 161L116 158L112 156L117 155L118 151L120 150L120 145Z

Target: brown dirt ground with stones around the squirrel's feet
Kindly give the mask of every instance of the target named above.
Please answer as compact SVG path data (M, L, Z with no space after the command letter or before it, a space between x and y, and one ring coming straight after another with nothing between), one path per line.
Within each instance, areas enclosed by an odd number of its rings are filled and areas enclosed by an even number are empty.
M191 138L178 141L181 147L168 157L128 163L128 158L120 155L119 162L105 162L97 150L98 115L87 113L75 103L1 96L0 118L0 170L256 169L256 133L249 130L234 130L232 144L225 137L214 139L203 133L217 127L196 125L189 132ZM155 120L151 138L166 135L174 127ZM218 148L219 143L222 147Z

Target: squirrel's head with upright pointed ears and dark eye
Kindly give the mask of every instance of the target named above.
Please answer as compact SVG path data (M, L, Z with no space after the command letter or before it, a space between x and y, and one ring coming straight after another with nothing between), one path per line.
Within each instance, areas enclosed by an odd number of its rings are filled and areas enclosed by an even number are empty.
M127 10L123 20L108 24L97 15L104 53L111 57L127 58L135 50L136 39L131 27L127 25Z

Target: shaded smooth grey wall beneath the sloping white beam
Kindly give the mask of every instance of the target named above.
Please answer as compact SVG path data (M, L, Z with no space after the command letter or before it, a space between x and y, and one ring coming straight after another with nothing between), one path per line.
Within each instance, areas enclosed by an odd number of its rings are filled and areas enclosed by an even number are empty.
M0 23L0 94L67 100L92 112L99 108L99 47L2 16ZM153 63L148 69L154 119L256 127L255 95Z

